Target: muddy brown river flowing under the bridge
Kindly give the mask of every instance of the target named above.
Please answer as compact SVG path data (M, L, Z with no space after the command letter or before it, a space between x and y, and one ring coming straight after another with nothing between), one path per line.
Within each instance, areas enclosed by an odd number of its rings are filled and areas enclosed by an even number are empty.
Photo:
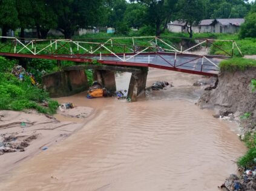
M117 78L123 86L128 74ZM128 103L86 99L60 102L95 108L85 127L10 172L0 190L218 190L246 151L237 126L194 104L200 76L153 69L174 87Z

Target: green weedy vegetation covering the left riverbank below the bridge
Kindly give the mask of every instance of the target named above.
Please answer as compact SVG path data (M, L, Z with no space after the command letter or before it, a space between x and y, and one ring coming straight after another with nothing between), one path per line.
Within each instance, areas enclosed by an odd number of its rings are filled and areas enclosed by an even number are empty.
M13 61L2 57L0 60L0 110L34 109L39 113L56 113L59 104L51 100L47 92L32 86L29 77L21 81L10 74ZM43 102L48 102L48 107L42 106Z

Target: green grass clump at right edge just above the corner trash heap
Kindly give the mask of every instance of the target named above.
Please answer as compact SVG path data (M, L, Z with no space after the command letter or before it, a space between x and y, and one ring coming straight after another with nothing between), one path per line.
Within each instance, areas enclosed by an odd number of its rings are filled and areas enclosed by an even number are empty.
M245 143L249 150L238 159L238 165L254 169L256 166L256 134L248 133L245 136Z

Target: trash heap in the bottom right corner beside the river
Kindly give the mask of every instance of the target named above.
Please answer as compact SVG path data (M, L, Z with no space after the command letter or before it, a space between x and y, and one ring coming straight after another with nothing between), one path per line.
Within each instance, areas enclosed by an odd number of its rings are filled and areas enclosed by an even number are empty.
M241 178L237 175L231 174L222 186L219 186L222 190L228 191L251 191L256 190L256 168L254 171L246 170Z

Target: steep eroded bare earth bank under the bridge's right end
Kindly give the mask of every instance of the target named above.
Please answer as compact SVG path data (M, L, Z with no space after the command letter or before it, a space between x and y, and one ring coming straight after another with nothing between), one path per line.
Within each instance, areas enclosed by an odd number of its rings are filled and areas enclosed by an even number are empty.
M256 121L256 92L252 92L250 86L252 78L256 78L255 67L245 71L222 72L217 88L205 93L198 103L202 108L214 108L220 116L234 114L237 121L239 116L249 112Z

